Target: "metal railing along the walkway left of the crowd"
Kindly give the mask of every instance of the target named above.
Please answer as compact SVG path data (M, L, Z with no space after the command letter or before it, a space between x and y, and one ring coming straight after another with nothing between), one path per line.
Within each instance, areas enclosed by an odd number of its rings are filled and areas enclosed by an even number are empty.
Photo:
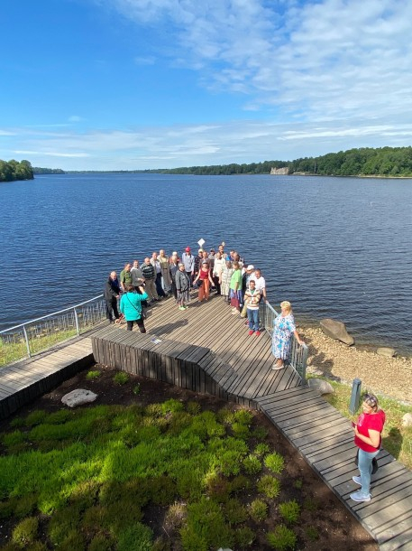
M0 331L0 366L31 358L87 332L104 319L105 300L99 294L84 303Z

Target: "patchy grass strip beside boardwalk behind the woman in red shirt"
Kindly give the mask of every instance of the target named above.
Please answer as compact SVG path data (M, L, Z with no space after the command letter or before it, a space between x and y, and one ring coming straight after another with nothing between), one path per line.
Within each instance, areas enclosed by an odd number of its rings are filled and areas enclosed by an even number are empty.
M361 408L356 415L351 415L349 403L352 388L327 378L324 379L334 388L334 394L325 395L327 402L331 406L334 406L343 416L356 421L361 413ZM362 389L362 392L366 392L367 390L370 389ZM393 398L377 396L380 407L386 414L386 423L382 433L382 447L408 469L412 469L412 426L402 426L402 417L406 413L412 414L412 406L401 404Z

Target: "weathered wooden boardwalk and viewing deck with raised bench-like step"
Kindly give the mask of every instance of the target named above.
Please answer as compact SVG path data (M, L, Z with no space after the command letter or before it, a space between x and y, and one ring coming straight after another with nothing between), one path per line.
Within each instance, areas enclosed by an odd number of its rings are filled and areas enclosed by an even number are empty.
M351 425L302 384L294 369L271 369L266 332L249 336L244 320L215 296L204 304L193 302L185 312L172 299L163 301L151 308L145 325L146 334L105 326L91 338L2 369L0 414L10 415L93 360L252 406L288 438L381 551L412 551L412 472L382 450L372 500L350 500L358 489L352 482L358 472Z

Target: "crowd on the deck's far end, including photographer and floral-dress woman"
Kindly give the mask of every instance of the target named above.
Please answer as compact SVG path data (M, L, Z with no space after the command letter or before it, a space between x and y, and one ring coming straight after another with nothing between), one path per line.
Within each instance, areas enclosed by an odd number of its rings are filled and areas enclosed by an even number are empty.
M197 290L197 302L206 302L211 293L221 295L231 305L232 314L247 318L249 336L261 335L259 306L267 302L266 281L261 269L247 265L235 251L224 250L224 243L209 251L200 247L197 255L191 247L181 254L174 251L168 256L164 249L138 260L126 262L119 277L111 272L105 285L107 319L113 323L124 316L127 329L134 323L140 332L144 327L145 309L168 296L173 296L180 311L185 311ZM120 313L118 300L120 299ZM303 341L296 330L291 305L280 304L281 313L274 323L272 352L276 363L272 369L283 369L290 353L294 335L299 344Z

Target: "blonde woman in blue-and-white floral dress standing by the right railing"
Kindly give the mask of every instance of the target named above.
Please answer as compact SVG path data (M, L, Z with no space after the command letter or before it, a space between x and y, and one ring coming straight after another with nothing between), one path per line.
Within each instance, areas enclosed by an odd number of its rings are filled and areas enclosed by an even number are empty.
M304 344L298 335L295 325L295 318L292 313L292 305L288 301L280 303L281 313L276 317L273 324L272 335L272 354L276 358L276 363L272 369L282 369L285 367L285 360L290 355L290 341L292 334L295 335L299 344Z

